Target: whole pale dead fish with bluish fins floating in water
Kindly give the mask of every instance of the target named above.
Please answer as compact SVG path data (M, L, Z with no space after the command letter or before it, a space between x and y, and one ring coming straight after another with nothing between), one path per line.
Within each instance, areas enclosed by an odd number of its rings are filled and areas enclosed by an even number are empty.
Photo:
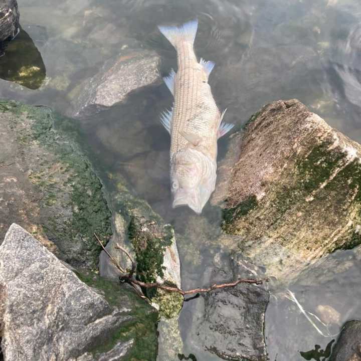
M216 186L217 140L233 124L222 123L208 77L212 61L197 60L194 52L198 21L180 27L158 26L177 52L178 71L163 78L174 96L171 110L161 123L169 132L170 180L173 208L188 205L201 214Z

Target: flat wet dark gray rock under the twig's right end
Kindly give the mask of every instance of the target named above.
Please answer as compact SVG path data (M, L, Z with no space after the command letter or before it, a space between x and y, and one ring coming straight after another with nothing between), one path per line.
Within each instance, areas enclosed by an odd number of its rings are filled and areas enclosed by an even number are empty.
M209 284L240 277L255 278L257 273L252 264L235 256L229 266L212 271ZM189 342L201 352L208 351L224 359L266 360L263 330L268 299L264 286L245 283L203 295L193 301L198 312L188 332Z

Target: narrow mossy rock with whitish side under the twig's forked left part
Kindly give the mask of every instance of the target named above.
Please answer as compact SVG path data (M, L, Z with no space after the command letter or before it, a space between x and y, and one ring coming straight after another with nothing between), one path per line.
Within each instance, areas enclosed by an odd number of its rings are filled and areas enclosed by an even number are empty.
M135 197L128 190L128 184L124 178L119 176L117 180L117 190L110 197L115 209L115 232L106 247L107 251L122 267L129 269L131 267L129 260L123 252L116 249L116 244L121 244L132 259L136 260L138 279L180 288L180 262L173 228L165 224L147 202ZM119 272L113 272L114 267L110 267L107 257L104 253L100 256L100 273L115 277ZM157 331L166 339L166 342L158 344L158 358L174 359L176 353L183 350L178 325L178 315L183 307L183 296L165 292L159 288L143 291L150 299L152 306L159 311Z

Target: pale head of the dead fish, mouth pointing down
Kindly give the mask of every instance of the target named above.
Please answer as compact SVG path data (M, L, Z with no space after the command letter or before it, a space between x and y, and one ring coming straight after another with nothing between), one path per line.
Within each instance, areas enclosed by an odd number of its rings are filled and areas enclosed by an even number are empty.
M197 214L211 197L216 185L216 162L189 148L174 154L171 162L173 208L188 206Z

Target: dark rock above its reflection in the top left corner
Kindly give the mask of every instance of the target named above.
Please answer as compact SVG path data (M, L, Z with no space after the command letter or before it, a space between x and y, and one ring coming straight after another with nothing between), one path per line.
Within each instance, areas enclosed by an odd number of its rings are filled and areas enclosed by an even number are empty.
M19 17L16 0L0 0L0 56L4 55L3 42L12 40L19 32Z

